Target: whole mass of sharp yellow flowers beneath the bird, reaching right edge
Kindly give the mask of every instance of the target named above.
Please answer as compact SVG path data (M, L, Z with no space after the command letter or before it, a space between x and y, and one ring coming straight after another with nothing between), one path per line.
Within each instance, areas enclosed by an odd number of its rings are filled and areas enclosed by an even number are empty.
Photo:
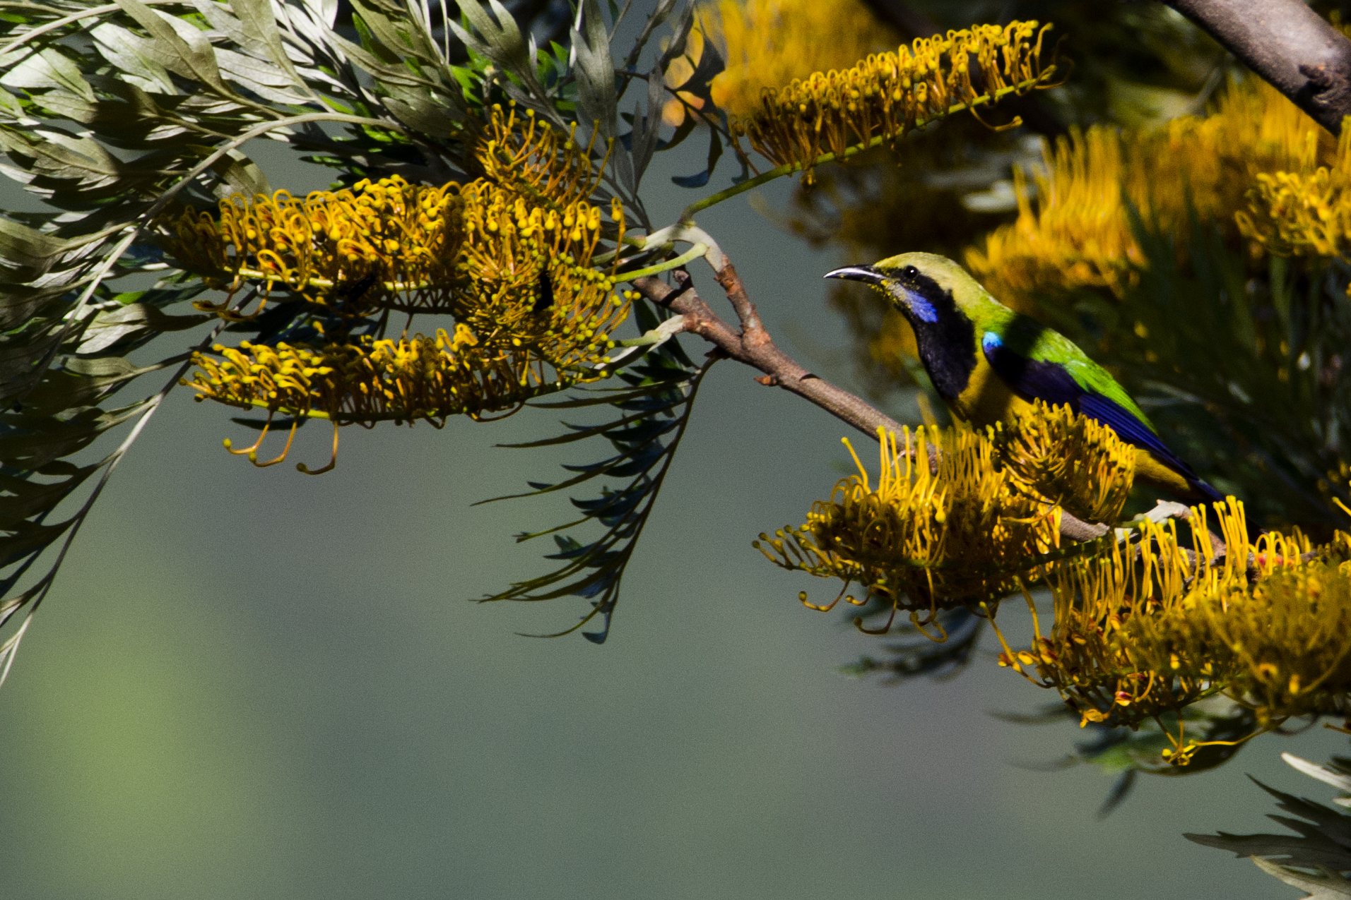
M804 592L812 609L881 600L923 629L966 606L993 623L997 602L1021 591L1034 638L1013 650L996 626L1000 665L1056 690L1082 723L1136 726L1210 696L1250 710L1258 731L1351 712L1351 536L1317 549L1297 530L1252 538L1229 498L1062 548L1062 509L1112 524L1129 493L1133 448L1111 429L1038 403L986 434L884 437L875 488L859 466L805 525L755 544L784 568L844 582L825 606ZM852 583L862 600L846 596ZM1034 583L1054 600L1047 634ZM1179 765L1209 746L1171 737Z

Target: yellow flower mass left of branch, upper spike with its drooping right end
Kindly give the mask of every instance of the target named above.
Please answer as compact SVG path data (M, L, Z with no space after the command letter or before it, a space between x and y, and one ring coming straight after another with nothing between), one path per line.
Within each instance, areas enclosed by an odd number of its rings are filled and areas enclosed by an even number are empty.
M605 223L585 201L555 209L486 181L431 189L390 178L358 189L304 201L286 192L251 202L235 197L222 204L219 223L186 213L161 232L176 235L168 243L185 264L227 275L231 294L249 278L266 277L353 316L450 313L493 345L520 348L519 368L600 362L600 344L628 313L630 300L612 302L604 278L590 270L601 232L624 231L617 201ZM424 224L428 209L439 219ZM535 227L557 223L559 213L565 231ZM277 221L290 225L273 228ZM363 293L354 294L354 285ZM553 294L547 308L539 305L543 294ZM226 305L212 309L239 317ZM589 322L588 340L559 332L570 321Z

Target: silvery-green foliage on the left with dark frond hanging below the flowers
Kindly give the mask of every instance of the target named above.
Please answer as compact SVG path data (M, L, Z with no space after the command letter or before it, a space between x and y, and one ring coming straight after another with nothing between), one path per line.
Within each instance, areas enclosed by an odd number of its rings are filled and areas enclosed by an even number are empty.
M349 26L336 20L332 0L0 3L5 174L47 208L0 219L0 625L38 606L112 467L185 374L190 349L209 347L222 331L215 316L189 305L204 285L174 267L147 225L170 204L209 210L232 194L270 193L249 140L281 142L334 169L335 189L390 175L463 182L481 174L473 150L488 107L515 101L565 131L581 125L581 146L598 127L593 163L605 158L608 170L593 201L617 196L651 231L638 188L654 152L678 143L658 134L663 72L684 53L693 5L673 19L674 1L659 3L631 49L628 69L661 26L674 28L646 78L646 105L624 116L628 134L620 134L617 104L634 77L616 78L611 53L617 9L607 23L588 0L571 46L540 50L531 23L517 23L496 0L459 7L455 20L446 4L355 0ZM715 54L688 88L707 96L716 72ZM239 297L236 309L254 296ZM336 324L301 298L273 301L230 331L274 344L317 340L317 329ZM200 333L211 321L215 328ZM382 337L386 325L388 316L361 328ZM193 329L186 340L177 335ZM632 478L617 494L576 501L582 521L609 529L607 538L581 545L559 536L557 557L569 560L562 573L501 596L534 596L544 586L551 596L577 592L594 599L593 614L608 622L698 378L674 344L640 343L624 352L624 364L642 359L624 375L627 386L566 403L613 406L620 418L557 441L605 436L619 456L553 490L601 475ZM131 362L147 344L159 352L155 362ZM153 372L170 375L162 389L112 402ZM120 447L89 456L100 436L132 421L141 424ZM0 645L0 672L22 633Z

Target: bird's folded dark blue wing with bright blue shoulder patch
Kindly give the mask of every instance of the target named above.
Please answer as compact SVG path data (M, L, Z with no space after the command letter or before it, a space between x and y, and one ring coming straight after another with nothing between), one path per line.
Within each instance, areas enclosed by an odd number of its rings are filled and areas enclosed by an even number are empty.
M1224 499L1213 487L1197 478L1192 467L1170 451L1147 422L1140 421L1115 399L1079 385L1065 366L1028 359L1006 347L994 332L985 332L981 337L981 349L994 372L1024 399L1040 399L1052 405L1069 403L1075 413L1108 425L1128 444L1154 453L1161 463L1181 474L1197 490L1213 494L1210 499Z

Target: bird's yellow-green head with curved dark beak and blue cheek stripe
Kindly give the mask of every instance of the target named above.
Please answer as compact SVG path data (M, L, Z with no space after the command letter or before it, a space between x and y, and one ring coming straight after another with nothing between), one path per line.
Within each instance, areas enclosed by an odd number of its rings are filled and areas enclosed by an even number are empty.
M871 285L916 327L935 324L957 310L970 316L967 306L988 297L965 269L934 254L888 256L871 266L844 266L825 277Z

